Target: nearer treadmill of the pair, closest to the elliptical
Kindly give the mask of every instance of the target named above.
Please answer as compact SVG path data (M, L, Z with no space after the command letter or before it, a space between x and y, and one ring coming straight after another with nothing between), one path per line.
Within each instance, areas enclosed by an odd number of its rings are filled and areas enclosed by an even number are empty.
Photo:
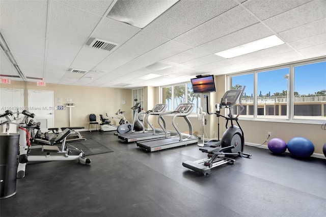
M195 106L194 103L180 103L175 111L162 113L158 116L158 120L159 120L161 116L173 115L172 125L178 132L177 135L169 137L167 129L158 121L158 124L165 132L165 138L137 142L137 146L142 149L145 149L148 152L153 152L162 149L168 149L168 148L198 143L198 137L196 137L196 135L193 135L193 125L187 117L190 113L192 113L194 106ZM180 130L177 128L175 124L176 117L184 118L184 120L187 122L189 127L189 134L180 132Z

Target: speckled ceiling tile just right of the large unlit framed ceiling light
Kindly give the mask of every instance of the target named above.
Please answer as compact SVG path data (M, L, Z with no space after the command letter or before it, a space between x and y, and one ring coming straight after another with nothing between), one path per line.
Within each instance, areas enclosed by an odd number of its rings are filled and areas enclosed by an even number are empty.
M228 0L180 1L144 30L173 39L236 5L235 2Z

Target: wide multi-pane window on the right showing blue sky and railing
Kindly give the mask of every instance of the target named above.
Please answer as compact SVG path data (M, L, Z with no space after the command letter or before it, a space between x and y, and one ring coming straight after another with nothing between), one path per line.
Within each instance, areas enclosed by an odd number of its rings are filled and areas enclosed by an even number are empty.
M230 89L242 89L242 117L326 120L326 61L230 75ZM238 108L235 110L238 111Z

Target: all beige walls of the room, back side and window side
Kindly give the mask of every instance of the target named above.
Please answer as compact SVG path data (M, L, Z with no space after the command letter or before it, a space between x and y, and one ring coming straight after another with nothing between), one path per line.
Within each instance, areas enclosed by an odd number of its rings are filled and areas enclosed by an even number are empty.
M215 76L216 93L210 93L210 111L213 112L214 103L219 103L223 94L226 91L226 76ZM88 116L91 113L109 116L114 114L120 108L125 111L126 118L131 121L131 90L128 89L114 89L114 88L98 88L98 87L82 87L82 86L67 86L67 85L52 85L46 84L46 87L37 87L36 83L14 82L10 85L0 85L0 88L22 88L25 89L25 102L27 100L26 93L29 89L32 90L52 90L56 98L62 98L65 103L66 98L71 98L76 107L72 108L72 125L85 126L88 128ZM122 100L126 104L122 104ZM150 110L155 104L159 102L159 88L145 87L144 88L144 109ZM55 104L58 105L58 104ZM206 106L206 105L202 105ZM62 127L69 124L69 112L55 111L55 126ZM189 118L193 124L193 130L197 131L199 135L202 134L202 123L197 117ZM207 115L206 134L208 138L217 138L218 121L216 116ZM118 120L118 119L116 119ZM171 117L167 116L168 129L174 130L171 124ZM188 130L186 122L183 118L177 118L176 122L181 132ZM267 138L267 132L271 132L271 138L280 138L288 142L291 138L301 136L309 139L315 146L315 153L322 154L322 146L326 143L326 133L320 128L320 124L308 123L285 123L285 122L271 122L271 121L249 121L241 120L240 124L244 131L244 139L246 143L262 144ZM155 127L159 127L154 121ZM220 118L220 137L225 131L225 120ZM216 132L213 134L213 132Z

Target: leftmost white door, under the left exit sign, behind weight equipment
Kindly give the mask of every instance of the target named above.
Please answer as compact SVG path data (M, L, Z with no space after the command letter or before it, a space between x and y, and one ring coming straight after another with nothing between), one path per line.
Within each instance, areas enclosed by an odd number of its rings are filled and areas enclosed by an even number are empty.
M0 114L10 110L13 113L22 112L24 110L24 90L23 89L11 89L11 88L0 88ZM17 114L15 114L17 117ZM1 121L5 121L2 119ZM3 125L3 129L0 132L6 131L6 125ZM17 132L15 125L10 125L9 132Z

